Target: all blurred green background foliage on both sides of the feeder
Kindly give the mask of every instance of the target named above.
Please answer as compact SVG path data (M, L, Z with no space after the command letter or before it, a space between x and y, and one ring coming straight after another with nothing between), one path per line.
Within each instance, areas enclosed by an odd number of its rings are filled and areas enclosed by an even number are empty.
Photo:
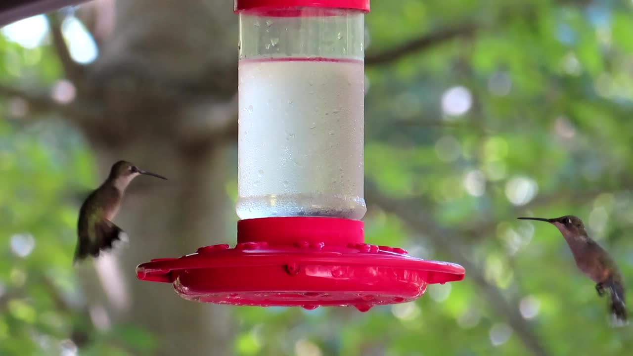
M367 241L469 262L482 278L467 270L465 281L367 313L233 308L235 355L533 355L517 325L551 355L628 355L630 329L608 326L605 298L559 232L515 217L579 215L633 285L631 10L630 1L373 1L368 53L453 24L487 26L368 67L365 106L368 179L451 233L416 231L368 201ZM1 82L59 78L50 46L0 35ZM456 87L470 105L449 115L442 99ZM92 152L56 117L30 123L12 105L0 100L0 355L59 354L77 330L90 340L83 355L151 354L170 336L97 331L72 268L73 192L96 182ZM235 181L226 190L235 198Z

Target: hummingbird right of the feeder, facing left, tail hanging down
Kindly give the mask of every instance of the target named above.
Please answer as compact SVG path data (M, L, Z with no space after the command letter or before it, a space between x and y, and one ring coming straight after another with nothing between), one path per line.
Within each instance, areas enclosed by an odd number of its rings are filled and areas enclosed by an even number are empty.
M619 322L625 323L627 321L627 311L624 305L624 283L622 283L620 270L609 254L589 237L582 220L573 215L554 219L539 217L520 217L518 219L545 221L556 226L572 250L573 259L578 268L596 282L598 296L604 295L605 288L610 292L611 314Z

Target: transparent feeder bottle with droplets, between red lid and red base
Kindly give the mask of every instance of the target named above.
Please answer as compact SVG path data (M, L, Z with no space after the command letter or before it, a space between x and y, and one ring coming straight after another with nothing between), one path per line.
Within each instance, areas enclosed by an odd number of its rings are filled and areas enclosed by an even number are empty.
M364 14L284 8L241 11L241 219L361 219Z

